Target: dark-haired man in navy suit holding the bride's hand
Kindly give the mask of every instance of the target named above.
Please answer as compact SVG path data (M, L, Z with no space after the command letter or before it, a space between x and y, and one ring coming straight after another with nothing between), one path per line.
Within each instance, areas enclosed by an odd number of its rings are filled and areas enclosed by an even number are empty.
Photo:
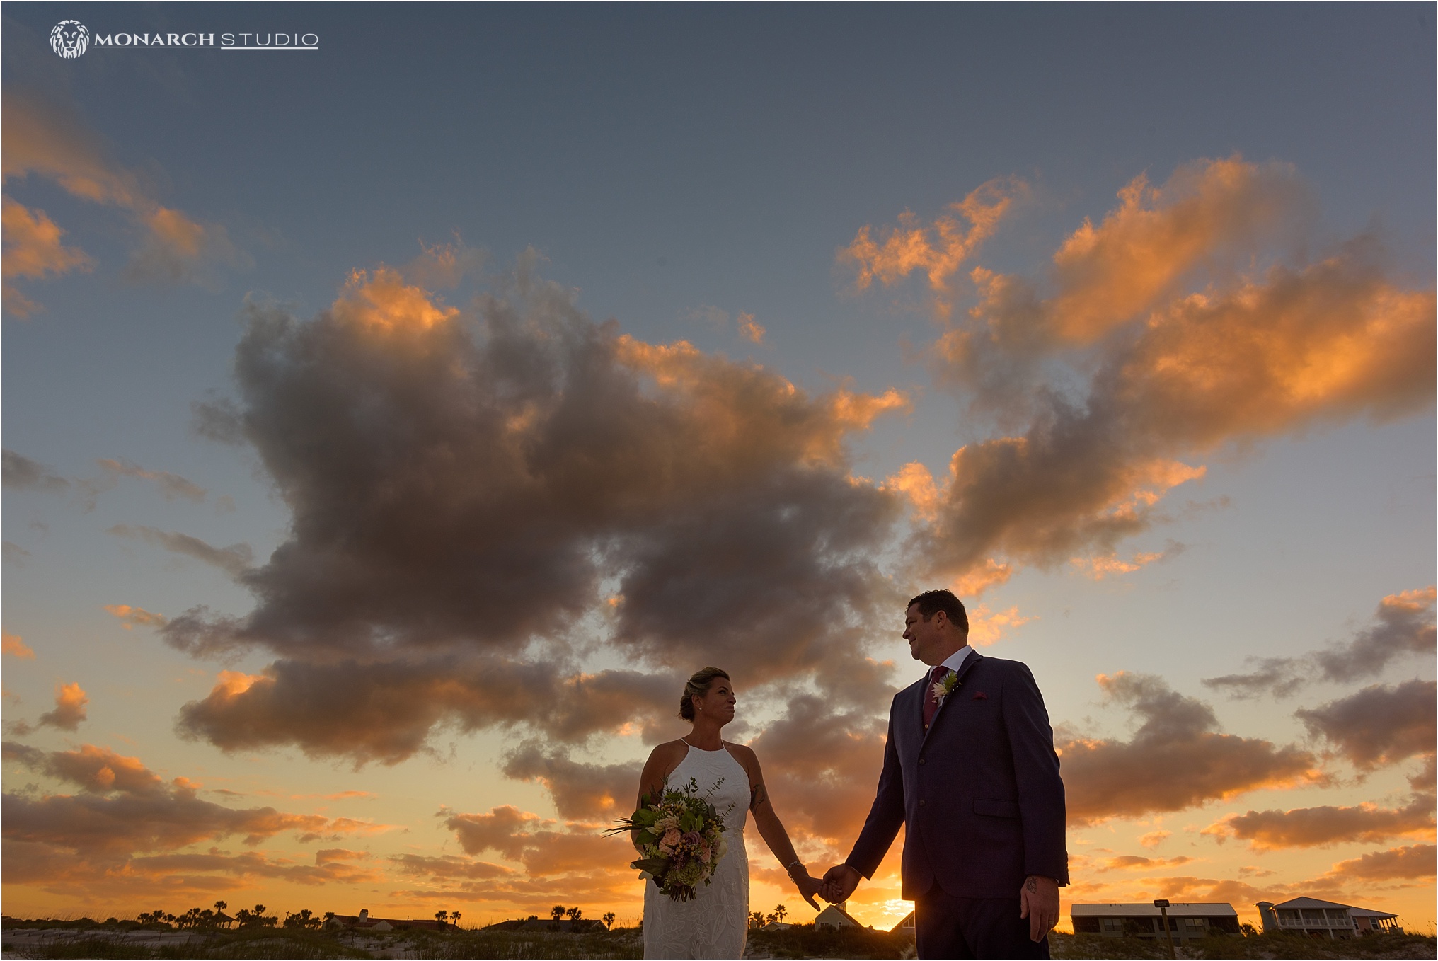
M879 794L821 893L847 901L903 824L902 896L916 902L920 958L1047 958L1068 853L1034 676L969 647L968 614L946 590L909 601L903 636L932 670L894 695Z

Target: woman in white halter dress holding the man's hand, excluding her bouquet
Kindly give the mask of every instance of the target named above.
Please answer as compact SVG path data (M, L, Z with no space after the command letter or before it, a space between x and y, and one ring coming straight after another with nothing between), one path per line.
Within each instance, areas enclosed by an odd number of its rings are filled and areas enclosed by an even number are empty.
M719 729L733 721L733 705L729 675L718 668L695 673L679 699L679 716L692 722L695 729L654 748L640 774L640 798L646 794L659 797L664 787L682 787L689 778L695 778L700 790L718 781L707 798L723 814L729 842L729 850L715 867L710 883L699 885L690 901L670 901L653 882L644 882L646 958L738 958L743 954L749 929L749 856L743 849L746 811L754 811L759 836L785 866L789 880L818 909L814 895L823 882L811 878L794 853L788 832L774 813L764 787L759 758L749 748L719 738ZM638 847L637 840L634 846Z

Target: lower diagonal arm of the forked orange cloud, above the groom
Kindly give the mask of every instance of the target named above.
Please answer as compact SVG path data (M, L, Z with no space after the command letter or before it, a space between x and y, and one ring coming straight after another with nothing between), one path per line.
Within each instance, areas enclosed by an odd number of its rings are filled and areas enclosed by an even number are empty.
M1081 407L1050 396L1027 433L961 449L919 552L958 573L1109 554L1202 476L1173 455L1429 404L1432 316L1432 292L1389 286L1357 252L1176 301L1109 347Z

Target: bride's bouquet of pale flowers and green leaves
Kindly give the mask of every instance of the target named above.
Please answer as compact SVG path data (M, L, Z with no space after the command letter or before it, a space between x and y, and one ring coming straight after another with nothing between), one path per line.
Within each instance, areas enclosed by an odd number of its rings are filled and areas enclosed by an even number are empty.
M637 832L636 840L644 855L630 867L638 870L640 878L653 879L654 886L674 901L693 898L700 880L707 885L729 847L723 817L699 797L695 778L683 787L664 788L656 801L646 794L638 810L618 819L618 827L611 827L610 833L630 830Z

